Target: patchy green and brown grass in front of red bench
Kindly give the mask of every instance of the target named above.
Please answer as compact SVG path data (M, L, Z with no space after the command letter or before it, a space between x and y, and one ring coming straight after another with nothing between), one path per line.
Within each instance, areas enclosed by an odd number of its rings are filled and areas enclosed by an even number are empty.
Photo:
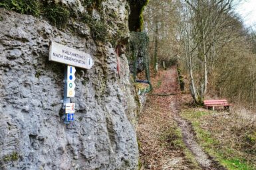
M227 169L256 169L255 114L233 108L231 112L186 108L198 142Z

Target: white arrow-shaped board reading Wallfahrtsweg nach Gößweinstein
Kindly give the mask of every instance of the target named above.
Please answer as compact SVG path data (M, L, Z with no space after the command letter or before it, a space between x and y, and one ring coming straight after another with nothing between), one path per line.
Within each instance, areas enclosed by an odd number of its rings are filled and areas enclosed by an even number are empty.
M63 46L57 42L51 42L49 60L85 69L90 69L94 64L90 54Z

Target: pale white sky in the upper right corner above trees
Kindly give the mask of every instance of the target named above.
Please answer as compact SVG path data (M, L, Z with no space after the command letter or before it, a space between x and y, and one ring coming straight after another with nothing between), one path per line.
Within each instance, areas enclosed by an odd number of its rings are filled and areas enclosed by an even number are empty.
M244 0L237 5L236 11L243 18L246 27L256 28L256 0Z

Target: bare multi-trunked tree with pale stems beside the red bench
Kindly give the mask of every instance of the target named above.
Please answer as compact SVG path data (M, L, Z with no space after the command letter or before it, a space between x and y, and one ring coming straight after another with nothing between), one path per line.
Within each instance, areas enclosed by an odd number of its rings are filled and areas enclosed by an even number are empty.
M182 38L190 72L190 91L195 103L207 93L209 70L217 57L216 46L230 26L232 0L184 0Z

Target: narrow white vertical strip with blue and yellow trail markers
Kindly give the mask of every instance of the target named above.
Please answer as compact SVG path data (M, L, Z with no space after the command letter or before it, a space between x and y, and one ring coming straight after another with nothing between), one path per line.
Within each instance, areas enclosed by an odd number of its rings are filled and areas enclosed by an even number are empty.
M74 76L74 73L76 72L76 68L73 66L68 65L68 69L67 69L67 88L66 88L66 97L74 97L75 95L75 91L74 91L74 87L76 87L76 85L74 84L74 80L76 79L76 77Z

